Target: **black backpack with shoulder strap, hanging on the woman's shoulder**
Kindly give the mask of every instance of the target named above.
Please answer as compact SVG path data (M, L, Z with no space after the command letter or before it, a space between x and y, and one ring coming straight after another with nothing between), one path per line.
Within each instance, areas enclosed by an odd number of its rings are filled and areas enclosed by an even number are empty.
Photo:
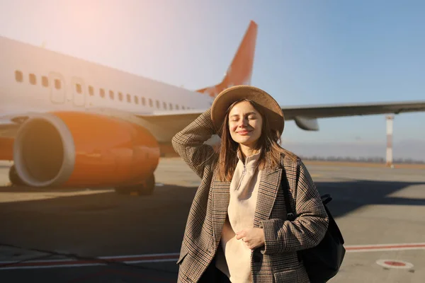
M285 172L285 171L283 171ZM289 221L295 220L292 207L289 201L289 184L286 175L282 175L282 190L285 197L286 213ZM323 195L321 197L324 209L326 209L329 216L329 226L322 241L313 248L306 250L299 250L298 258L304 263L307 275L312 283L324 283L334 277L341 267L342 260L346 250L344 248L344 238L338 225L332 217L331 212L327 208L332 198L330 195Z

